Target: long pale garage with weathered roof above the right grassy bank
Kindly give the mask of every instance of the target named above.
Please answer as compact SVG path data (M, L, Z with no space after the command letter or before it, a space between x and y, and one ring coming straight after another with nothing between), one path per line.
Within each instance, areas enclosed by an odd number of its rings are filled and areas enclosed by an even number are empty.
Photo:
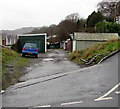
M72 41L72 51L80 51L90 46L108 41L110 39L118 39L118 33L74 33Z

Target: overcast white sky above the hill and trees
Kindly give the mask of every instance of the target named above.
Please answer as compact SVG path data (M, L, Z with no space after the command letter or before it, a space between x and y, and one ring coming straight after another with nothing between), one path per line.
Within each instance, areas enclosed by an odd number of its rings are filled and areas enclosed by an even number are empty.
M87 18L102 0L0 0L0 29L58 24L67 15Z

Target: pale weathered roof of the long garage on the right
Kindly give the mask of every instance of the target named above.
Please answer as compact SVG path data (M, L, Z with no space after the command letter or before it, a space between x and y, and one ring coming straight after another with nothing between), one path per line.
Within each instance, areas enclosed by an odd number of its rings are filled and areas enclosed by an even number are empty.
M118 33L74 33L73 40L109 40L119 38Z

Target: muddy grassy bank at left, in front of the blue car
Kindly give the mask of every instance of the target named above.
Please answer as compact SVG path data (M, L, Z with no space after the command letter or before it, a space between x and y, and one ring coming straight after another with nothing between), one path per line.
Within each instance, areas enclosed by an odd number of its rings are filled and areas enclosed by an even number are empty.
M2 72L0 74L2 89L15 84L19 77L23 75L25 66L28 64L29 59L22 58L20 54L9 49L2 49ZM1 87L0 87L1 89Z

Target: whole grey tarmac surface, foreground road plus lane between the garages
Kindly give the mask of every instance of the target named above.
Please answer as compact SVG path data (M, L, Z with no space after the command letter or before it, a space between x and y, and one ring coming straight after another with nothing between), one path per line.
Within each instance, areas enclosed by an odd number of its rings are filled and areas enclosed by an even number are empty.
M118 107L118 54L80 68L63 50L40 54L38 63L2 94L3 107Z

